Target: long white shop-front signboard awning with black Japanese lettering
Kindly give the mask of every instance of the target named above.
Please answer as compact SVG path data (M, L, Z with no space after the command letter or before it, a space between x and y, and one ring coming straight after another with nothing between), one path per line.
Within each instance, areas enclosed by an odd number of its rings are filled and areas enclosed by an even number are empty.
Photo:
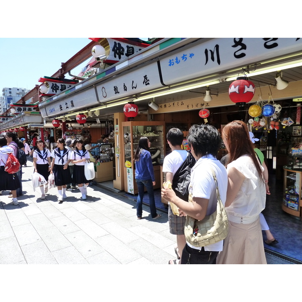
M90 108L105 112L130 100L175 94L236 78L247 65L263 73L284 62L302 65L302 39L164 39L39 104L43 117ZM170 43L170 44L169 44ZM278 65L279 64L279 65ZM276 68L278 68L276 67ZM104 110L103 110L104 109Z

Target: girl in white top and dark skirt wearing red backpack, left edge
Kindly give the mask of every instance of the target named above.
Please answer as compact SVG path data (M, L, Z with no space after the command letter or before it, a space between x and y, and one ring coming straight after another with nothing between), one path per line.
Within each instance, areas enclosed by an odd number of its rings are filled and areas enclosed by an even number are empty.
M14 154L14 149L7 146L7 143L8 141L5 137L0 138L0 191L12 191L13 204L18 205L16 190L20 188L19 178L16 174L9 174L4 170L9 157L8 154Z

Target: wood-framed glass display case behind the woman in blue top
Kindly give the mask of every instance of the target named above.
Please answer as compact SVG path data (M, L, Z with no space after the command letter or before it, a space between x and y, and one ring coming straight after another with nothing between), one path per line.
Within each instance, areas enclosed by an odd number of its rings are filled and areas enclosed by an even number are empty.
M138 147L140 137L147 137L151 143L150 154L154 167L156 185L154 188L161 187L160 165L163 164L165 157L165 125L163 122L123 122L124 136L124 169L125 169L125 191L131 194L137 194L135 183L135 162L134 153Z

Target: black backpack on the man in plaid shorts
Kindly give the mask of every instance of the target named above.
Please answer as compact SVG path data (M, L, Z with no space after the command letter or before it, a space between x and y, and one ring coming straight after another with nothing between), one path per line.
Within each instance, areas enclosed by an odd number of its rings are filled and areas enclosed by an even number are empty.
M189 197L189 184L191 181L191 169L196 163L195 158L192 153L188 151L188 156L182 165L178 168L175 175L173 176L172 189L175 191L175 194L188 201Z

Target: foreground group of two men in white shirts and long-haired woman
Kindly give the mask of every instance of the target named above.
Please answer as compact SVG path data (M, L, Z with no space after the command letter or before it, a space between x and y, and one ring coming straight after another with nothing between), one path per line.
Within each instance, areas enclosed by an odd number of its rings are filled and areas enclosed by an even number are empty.
M175 131L174 131L175 132ZM168 132L169 133L169 132ZM225 167L216 159L221 146L221 136L229 153ZM188 142L196 164L191 170L189 193L192 202L178 197L174 190L162 189L162 198L173 202L179 209L179 217L169 211L170 232L176 234L178 249L175 250L180 264L266 264L260 213L265 207L267 188L266 175L256 157L247 125L233 121L222 129L222 135L211 125L193 125ZM175 144L167 139L169 145ZM178 161L181 161L179 143L172 148L175 155L172 164L164 161L167 179L173 177ZM181 216L203 220L217 207L216 186L212 175L215 172L220 199L229 220L229 232L224 240L204 247L183 242L185 222ZM171 175L172 174L172 175ZM170 210L170 206L169 206ZM174 221L174 222L173 222ZM179 233L178 233L179 232ZM183 247L184 246L184 247ZM177 264L170 261L169 264Z

